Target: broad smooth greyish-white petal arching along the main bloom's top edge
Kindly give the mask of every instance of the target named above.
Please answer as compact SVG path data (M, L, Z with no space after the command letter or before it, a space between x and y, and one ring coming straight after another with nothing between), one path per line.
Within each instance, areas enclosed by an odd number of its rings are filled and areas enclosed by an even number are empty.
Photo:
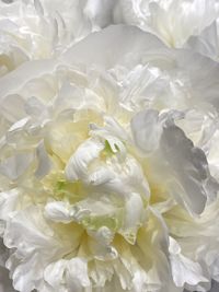
M116 46L112 47L112 44ZM62 56L62 61L68 65L84 63L88 67L99 65L108 69L116 63L139 63L142 57L140 52L157 55L159 49L164 48L165 46L155 36L143 33L137 27L111 25L99 33L89 35L70 48Z

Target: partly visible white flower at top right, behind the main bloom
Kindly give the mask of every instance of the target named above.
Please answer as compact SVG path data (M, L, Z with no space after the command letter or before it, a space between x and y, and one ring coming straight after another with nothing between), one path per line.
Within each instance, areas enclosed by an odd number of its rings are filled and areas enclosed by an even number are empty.
M169 46L182 47L218 16L215 0L118 1L115 19L158 35Z

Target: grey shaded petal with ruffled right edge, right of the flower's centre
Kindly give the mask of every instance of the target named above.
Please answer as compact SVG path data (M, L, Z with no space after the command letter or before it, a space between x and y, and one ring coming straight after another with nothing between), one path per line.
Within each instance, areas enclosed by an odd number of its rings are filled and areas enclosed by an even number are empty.
M178 194L177 196L185 201L192 212L201 213L208 197L211 200L218 190L217 184L214 184L214 179L209 174L205 153L195 148L183 130L175 125L163 128L161 149L174 175L185 190L184 195L181 195L180 188L176 190L175 187L174 194ZM208 184L212 186L212 189L211 187L206 188ZM175 197L176 200L180 197Z

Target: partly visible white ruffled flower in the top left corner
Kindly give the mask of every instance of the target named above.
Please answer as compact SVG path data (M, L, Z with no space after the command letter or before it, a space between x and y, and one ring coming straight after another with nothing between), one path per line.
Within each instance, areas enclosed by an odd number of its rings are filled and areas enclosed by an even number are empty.
M81 1L0 2L0 75L33 59L58 56L94 30Z

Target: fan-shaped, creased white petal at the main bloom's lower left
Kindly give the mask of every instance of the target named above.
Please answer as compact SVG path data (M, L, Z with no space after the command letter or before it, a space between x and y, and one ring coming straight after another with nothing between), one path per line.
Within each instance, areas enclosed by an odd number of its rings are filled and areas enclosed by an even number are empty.
M4 244L14 250L7 261L7 268L11 271L14 288L21 292L38 288L48 262L57 255L62 257L69 252L65 242L60 243L54 237L54 231L43 218L41 209L33 206L8 221Z

